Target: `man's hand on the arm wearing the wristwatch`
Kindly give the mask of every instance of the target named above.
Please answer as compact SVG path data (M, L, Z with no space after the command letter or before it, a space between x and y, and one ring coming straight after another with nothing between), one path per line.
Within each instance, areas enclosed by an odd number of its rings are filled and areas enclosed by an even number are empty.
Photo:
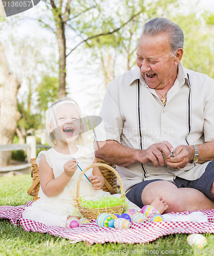
M173 169L184 168L188 162L193 160L194 147L192 145L179 145L175 148L173 155L175 157L169 158L165 163Z

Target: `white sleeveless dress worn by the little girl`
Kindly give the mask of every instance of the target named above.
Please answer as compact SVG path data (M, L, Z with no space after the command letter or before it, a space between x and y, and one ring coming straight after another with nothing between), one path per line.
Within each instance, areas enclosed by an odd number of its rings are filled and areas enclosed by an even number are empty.
M41 151L36 159L39 166L39 161L43 155L45 155L47 163L53 169L54 178L59 177L63 172L63 165L70 159L75 158L79 162L79 166L84 170L87 166L92 164L94 160L93 147L91 145L81 146L77 145L78 151L72 155L65 155L57 152L54 148L48 151ZM50 226L65 226L68 216L79 216L82 217L78 208L75 207L75 202L73 198L76 198L77 191L77 181L81 170L78 167L74 176L70 179L64 189L57 196L47 197L44 195L41 186L39 188L39 193L37 201L33 202L31 206L26 207L25 211L22 213L24 219L35 220L37 222L43 223ZM92 168L87 170L85 173L87 177L92 175ZM80 197L86 200L99 200L102 196L107 197L110 193L100 190L94 190L91 183L83 175L80 183ZM112 196L112 195L111 195ZM120 197L120 194L113 195L115 197ZM129 206L139 209L135 204L129 203Z

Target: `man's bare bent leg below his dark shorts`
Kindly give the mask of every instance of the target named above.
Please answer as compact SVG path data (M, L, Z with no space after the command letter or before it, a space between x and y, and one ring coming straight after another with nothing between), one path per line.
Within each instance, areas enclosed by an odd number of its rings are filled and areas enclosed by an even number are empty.
M212 184L212 186L214 185ZM177 188L169 181L155 181L148 184L142 191L142 203L144 205L151 204L157 196L164 198L169 205L164 213L214 208L214 201L199 190L186 187Z

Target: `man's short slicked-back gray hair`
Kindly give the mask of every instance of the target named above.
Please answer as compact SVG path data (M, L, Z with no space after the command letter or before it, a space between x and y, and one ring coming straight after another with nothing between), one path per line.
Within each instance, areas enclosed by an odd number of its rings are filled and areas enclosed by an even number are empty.
M143 29L143 35L155 36L160 33L168 33L172 52L175 53L179 48L183 49L184 36L182 29L171 20L166 18L153 18L147 22Z

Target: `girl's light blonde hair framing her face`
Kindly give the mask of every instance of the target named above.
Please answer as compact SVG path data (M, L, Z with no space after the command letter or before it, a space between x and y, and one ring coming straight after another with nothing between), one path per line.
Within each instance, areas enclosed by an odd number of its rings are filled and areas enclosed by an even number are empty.
M77 104L77 102L74 99L71 99L69 97L62 97L60 99L57 99L50 105L49 109L47 109L47 111L45 113L45 118L46 118L45 140L51 146L55 146L56 142L57 142L56 138L54 136L54 133L50 131L50 126L53 126L53 123L56 122L56 120L55 120L56 106L57 106L57 103L65 101L65 100L66 101L73 101L74 104L77 105L78 110L79 110L80 120L81 120L81 130L84 131L83 122L82 122L83 114L82 114L82 111L80 110L80 107ZM80 145L85 144L85 135L84 135L84 133L79 134L78 138L75 140L75 144L80 144Z

